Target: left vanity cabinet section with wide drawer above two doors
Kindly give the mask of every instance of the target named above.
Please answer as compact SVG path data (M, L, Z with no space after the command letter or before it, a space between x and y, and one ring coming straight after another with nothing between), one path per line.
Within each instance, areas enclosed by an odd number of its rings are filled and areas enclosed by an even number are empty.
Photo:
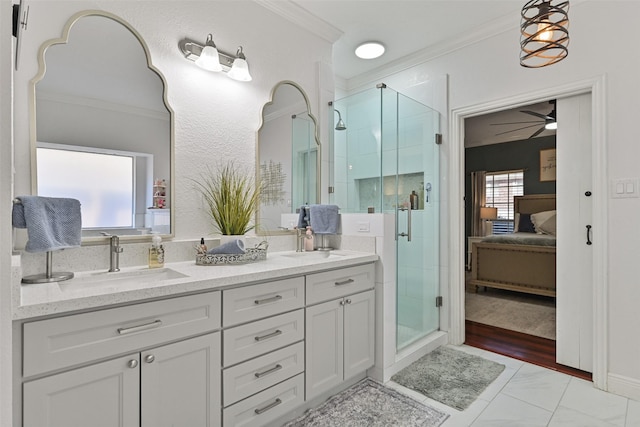
M23 425L218 426L220 292L23 325Z

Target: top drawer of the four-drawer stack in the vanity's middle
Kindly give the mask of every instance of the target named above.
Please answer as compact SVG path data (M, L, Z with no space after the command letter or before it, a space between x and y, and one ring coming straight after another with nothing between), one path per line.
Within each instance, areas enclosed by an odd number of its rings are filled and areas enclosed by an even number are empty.
M224 327L304 306L304 277L222 291Z

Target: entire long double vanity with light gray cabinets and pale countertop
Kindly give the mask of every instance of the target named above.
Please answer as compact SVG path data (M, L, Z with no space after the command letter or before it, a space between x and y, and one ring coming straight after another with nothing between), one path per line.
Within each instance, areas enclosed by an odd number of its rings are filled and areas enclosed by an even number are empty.
M16 412L25 427L263 426L299 415L373 366L377 259L274 252L22 285Z

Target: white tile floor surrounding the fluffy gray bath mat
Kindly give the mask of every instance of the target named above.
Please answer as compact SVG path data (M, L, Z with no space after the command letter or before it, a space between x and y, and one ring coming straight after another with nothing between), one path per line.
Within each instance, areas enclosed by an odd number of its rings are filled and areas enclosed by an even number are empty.
M466 410L458 411L390 381L387 385L449 414L442 427L636 427L640 402L589 381L469 346L453 347L506 366Z

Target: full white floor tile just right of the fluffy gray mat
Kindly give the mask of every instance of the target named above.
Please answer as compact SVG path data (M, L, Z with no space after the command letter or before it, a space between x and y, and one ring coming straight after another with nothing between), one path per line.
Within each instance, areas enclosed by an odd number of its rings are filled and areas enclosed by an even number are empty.
M502 392L547 411L555 411L570 380L568 375L525 363Z

